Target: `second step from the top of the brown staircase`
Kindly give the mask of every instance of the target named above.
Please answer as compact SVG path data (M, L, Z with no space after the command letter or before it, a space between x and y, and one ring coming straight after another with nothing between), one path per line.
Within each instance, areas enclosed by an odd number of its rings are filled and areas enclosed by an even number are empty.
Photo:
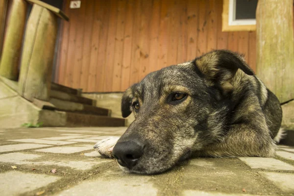
M70 93L65 93L61 91L51 90L50 98L58 98L61 100L72 101L76 103L83 103L87 105L94 105L95 100L90 98L79 97Z

